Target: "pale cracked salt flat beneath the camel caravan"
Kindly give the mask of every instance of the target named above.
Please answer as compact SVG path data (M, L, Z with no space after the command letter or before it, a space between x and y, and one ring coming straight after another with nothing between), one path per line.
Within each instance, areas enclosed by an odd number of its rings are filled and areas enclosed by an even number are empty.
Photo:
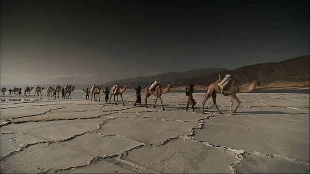
M149 109L134 107L132 89L125 106L102 91L101 102L82 90L42 95L1 96L0 173L310 172L309 94L240 93L235 116L219 94L223 115L212 99L202 114L204 93L193 94L196 114L185 112L185 91L162 95L166 111L159 100L153 109L154 96Z

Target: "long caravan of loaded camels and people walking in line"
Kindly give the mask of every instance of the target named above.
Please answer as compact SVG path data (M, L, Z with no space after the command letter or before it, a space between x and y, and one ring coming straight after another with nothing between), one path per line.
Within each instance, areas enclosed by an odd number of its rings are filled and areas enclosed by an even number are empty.
M202 114L206 114L206 111L205 108L204 108L204 105L205 103L207 102L207 100L209 98L212 97L212 100L213 100L213 104L214 106L217 108L217 111L220 113L220 114L223 114L218 106L217 106L217 101L216 101L216 98L217 98L217 94L222 94L224 96L231 96L231 102L230 102L230 114L231 115L235 115L235 113L237 113L237 109L238 107L240 106L241 102L240 100L237 98L236 94L238 92L240 93L246 93L246 92L251 92L252 90L255 89L255 87L259 86L260 83L257 82L257 81L252 81L250 83L250 85L247 87L247 88L241 88L237 82L237 80L235 79L235 77L231 74L226 74L225 75L225 78L221 80L220 78L220 74L218 74L218 80L214 83L211 83L207 89L206 89L206 93L205 93L205 97L204 97L204 100L202 101ZM148 85L147 87L144 88L144 93L145 93L145 97L144 97L144 103L145 103L145 107L146 108L149 108L148 107L148 104L147 104L147 99L150 97L150 96L155 96L155 102L154 102L154 106L153 108L156 108L156 102L157 100L159 99L160 100L160 103L161 103L161 106L162 106L162 110L165 110L164 108L164 104L162 102L162 99L161 99L161 96L162 94L166 94L167 92L170 91L171 87L175 86L174 83L171 83L169 82L167 84L167 87L163 88L162 85L157 81L157 79L155 79L155 81L152 83L150 82L150 85ZM193 87L193 85L191 85ZM121 96L121 99L122 99L122 103L123 103L123 106L125 106L124 104L124 100L123 100L123 93L124 91L130 87L130 85L128 84L125 84L124 87L120 86L118 83L115 83L112 87L108 88L106 87L106 90L102 90L103 93L105 94L106 96L106 102L108 104L108 100L109 100L109 104L111 104L111 99L113 97L113 100L114 100L114 104L115 105L118 105L118 97L119 95ZM65 85L65 87L61 87L60 85L56 85L55 87L51 87L51 86L48 86L47 87L47 97L54 97L54 99L56 99L56 97L59 99L59 93L61 92L62 94L62 99L71 99L71 92L74 91L74 88L75 86L72 86L71 84L67 84ZM83 89L83 91L85 92L85 95L86 95L86 100L88 100L88 96L89 96L89 93L92 94L92 97L91 97L91 101L94 101L95 102L100 102L100 91L101 91L101 88L102 86L101 85L98 85L98 84L93 84L93 86L91 87L90 90L87 89ZM41 87L41 86L37 86L36 88L34 87L29 87L27 86L24 90L24 95L27 96L27 95L31 95L31 91L34 90L34 95L37 95L37 96L42 96L42 91L45 89L45 87ZM186 87L186 96L187 95L187 90L189 88ZM21 94L21 90L22 88L18 88L18 87L14 87L13 89L8 89L9 91L9 95L17 95L17 94ZM141 106L142 106L142 103L141 103L141 97L140 97L140 92L141 92L141 88L139 86L139 90L138 88L135 88L136 90L136 96L137 96L137 101L135 102L134 106L136 106L136 103L140 103ZM1 94L4 95L5 92L7 91L7 89L5 87L2 87L1 88ZM194 91L194 89L192 89L192 92ZM98 98L98 100L97 100ZM115 100L116 98L116 100ZM237 102L237 106L236 108L233 110L233 101L236 100ZM190 101L193 101L193 102L190 102ZM194 105L196 104L197 102L195 100L193 100L192 98L192 95L191 97L188 96L188 101L187 101L187 108L186 108L186 112L187 109L188 109L188 104L191 104L192 105L192 108L194 108ZM206 108L208 109L208 107ZM196 113L196 111L194 112Z

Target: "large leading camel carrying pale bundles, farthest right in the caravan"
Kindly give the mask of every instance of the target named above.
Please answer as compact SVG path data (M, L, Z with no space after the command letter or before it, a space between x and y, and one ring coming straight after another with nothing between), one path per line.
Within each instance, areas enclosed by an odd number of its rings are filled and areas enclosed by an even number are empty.
M233 78L230 84L228 84L226 87L223 88L221 92L221 87L218 86L220 83L220 79L217 80L216 82L212 83L207 87L207 92L205 94L204 100L202 102L202 113L204 113L204 104L207 102L207 100L212 97L213 99L213 104L217 108L219 114L223 114L217 107L217 94L223 94L224 96L231 96L231 115L235 115L234 113L237 113L238 106L241 104L239 99L236 96L236 93L241 92L241 93L246 93L246 92L251 92L256 86L260 85L259 82L256 80L252 81L251 85L246 88L246 89L240 89L240 86L236 82L236 80ZM236 109L234 110L233 113L233 99L235 99L238 102L238 105L236 106Z

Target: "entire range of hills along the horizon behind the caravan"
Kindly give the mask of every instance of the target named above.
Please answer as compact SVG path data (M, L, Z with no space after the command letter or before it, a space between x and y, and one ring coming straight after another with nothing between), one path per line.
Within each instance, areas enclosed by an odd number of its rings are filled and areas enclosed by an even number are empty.
M310 56L301 56L291 58L277 63L260 63L237 68L235 70L227 70L225 68L206 68L187 71L184 73L163 73L155 76L135 77L119 81L111 81L101 84L102 88L112 87L113 84L119 83L122 87L129 84L130 88L141 86L142 88L150 85L151 81L157 79L163 87L168 82L175 83L175 87L171 90L183 90L185 86L194 85L196 89L206 89L211 83L217 81L218 74L221 79L226 73L235 75L241 86L245 86L253 80L259 81L263 86L257 88L264 89L308 89L310 88ZM59 84L64 87L66 84ZM75 89L91 88L90 85L73 84ZM31 87L36 87L32 85ZM55 87L55 84L45 84L41 87ZM14 86L6 86L13 88ZM23 87L22 87L23 88Z

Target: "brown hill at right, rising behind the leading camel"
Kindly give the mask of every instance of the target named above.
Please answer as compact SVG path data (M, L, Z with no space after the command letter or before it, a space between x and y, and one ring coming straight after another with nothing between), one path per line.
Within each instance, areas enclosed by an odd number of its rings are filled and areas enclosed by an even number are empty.
M244 66L235 70L219 72L221 79L226 73L235 75L239 84L246 86L253 80L259 81L264 89L309 89L310 81L310 56L301 56L284 60L278 63L260 63ZM218 73L192 78L177 84L174 89L183 89L188 84L193 84L200 89L205 89L217 81Z

